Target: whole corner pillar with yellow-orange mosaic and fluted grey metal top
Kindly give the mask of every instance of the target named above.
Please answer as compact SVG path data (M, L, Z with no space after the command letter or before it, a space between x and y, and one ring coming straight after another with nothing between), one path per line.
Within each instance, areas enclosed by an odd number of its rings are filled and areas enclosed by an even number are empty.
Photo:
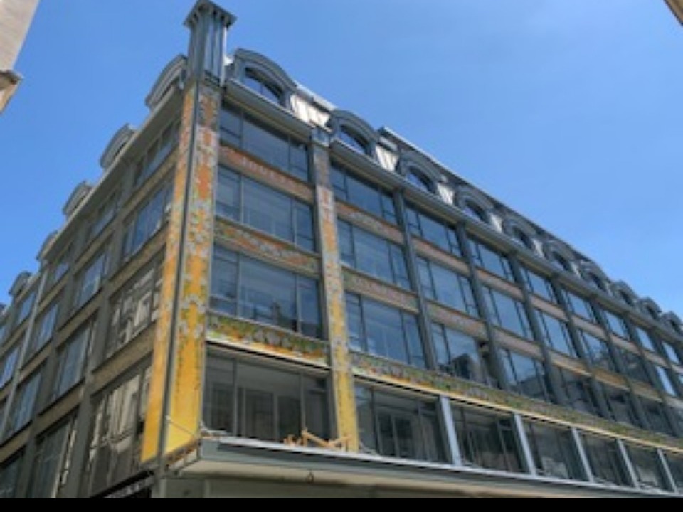
M142 447L147 463L157 457L161 464L165 455L196 442L201 425L220 87L226 30L234 21L206 0L186 21L192 32L189 78Z

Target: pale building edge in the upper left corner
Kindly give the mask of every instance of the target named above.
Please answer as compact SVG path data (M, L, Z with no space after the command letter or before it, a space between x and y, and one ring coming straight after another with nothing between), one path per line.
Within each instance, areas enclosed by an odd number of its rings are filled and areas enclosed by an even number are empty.
M38 0L0 0L0 113L21 82L14 65L37 7Z

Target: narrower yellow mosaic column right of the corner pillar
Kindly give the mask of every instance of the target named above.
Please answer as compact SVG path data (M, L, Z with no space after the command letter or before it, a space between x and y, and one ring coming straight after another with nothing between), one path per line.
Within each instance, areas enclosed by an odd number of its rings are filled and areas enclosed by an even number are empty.
M337 208L332 191L329 154L326 149L314 144L313 159L316 173L318 218L320 219L322 233L321 252L329 319L334 410L337 417L339 437L346 439L351 452L358 452L360 439L356 413L356 393L351 353L349 352L349 334L346 329L344 277L339 257Z

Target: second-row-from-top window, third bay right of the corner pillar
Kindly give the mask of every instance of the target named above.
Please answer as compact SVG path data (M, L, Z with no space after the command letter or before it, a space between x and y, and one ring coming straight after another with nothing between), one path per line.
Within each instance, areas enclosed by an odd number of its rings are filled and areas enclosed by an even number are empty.
M470 316L480 316L470 279L418 257L418 272L425 297Z

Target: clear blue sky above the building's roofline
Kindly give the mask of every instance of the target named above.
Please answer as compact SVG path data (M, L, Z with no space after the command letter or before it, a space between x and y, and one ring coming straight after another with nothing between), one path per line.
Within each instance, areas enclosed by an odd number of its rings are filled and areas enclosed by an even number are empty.
M436 156L683 314L683 28L658 0L219 0L228 45ZM43 1L0 117L0 302L184 53L194 0Z

